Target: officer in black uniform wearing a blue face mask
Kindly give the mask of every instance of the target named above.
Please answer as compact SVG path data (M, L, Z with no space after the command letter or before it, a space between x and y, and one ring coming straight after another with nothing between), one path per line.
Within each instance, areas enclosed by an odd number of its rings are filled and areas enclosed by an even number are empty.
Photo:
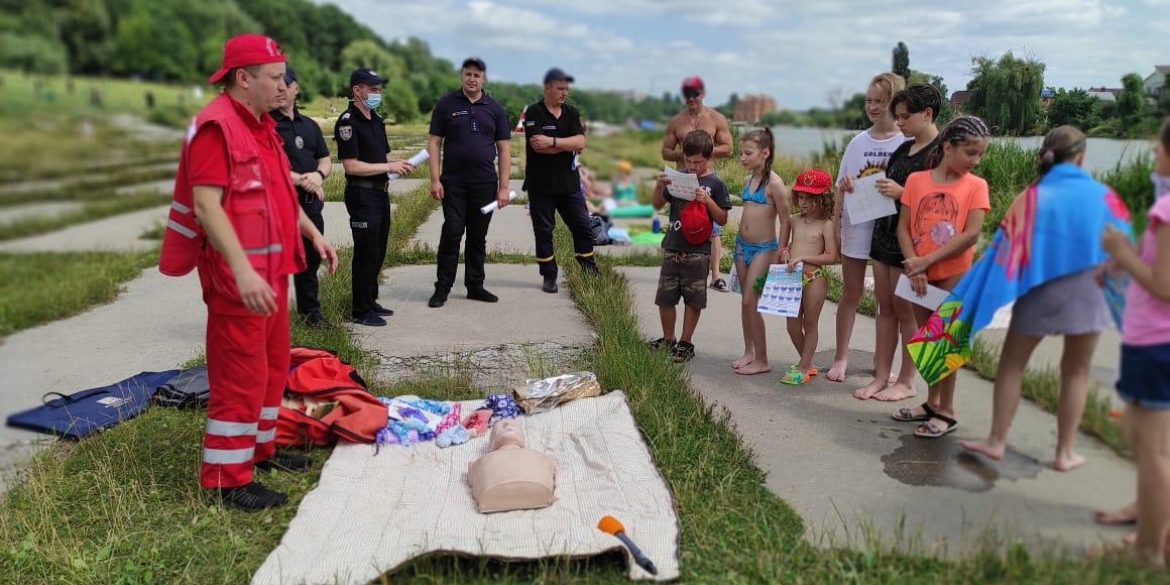
M390 241L390 198L387 173L406 174L413 170L406 160L390 159L386 126L376 110L381 103L386 80L371 69L350 74L350 106L337 118L333 139L337 158L345 168L345 208L353 230L352 319L362 325L381 326L383 316L394 311L378 304L378 275Z

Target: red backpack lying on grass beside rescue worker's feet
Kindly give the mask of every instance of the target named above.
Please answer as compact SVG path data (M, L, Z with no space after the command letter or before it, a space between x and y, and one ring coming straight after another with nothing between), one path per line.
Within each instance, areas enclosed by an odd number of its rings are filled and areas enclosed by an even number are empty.
M338 439L372 443L390 412L353 366L330 350L292 347L291 356L276 445L324 447Z

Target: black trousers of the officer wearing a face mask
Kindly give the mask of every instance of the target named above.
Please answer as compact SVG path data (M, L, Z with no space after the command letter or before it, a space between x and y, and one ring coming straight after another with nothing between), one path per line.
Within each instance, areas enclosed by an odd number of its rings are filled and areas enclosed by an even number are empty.
M373 311L378 275L390 242L390 198L385 191L345 187L345 209L353 232L353 316Z

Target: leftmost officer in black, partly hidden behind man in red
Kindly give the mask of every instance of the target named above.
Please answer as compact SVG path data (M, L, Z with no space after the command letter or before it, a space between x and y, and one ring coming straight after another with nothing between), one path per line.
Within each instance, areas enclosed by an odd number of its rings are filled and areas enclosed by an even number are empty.
M317 226L317 230L324 234L325 219L321 212L325 208L325 188L322 184L332 172L333 163L329 158L329 145L325 144L321 126L312 118L302 116L296 108L301 87L291 67L284 69L284 83L288 89L277 96L280 105L270 113L276 121L276 133L284 140L284 154L289 157L301 208L312 220L312 225ZM321 302L317 300L321 256L308 240L304 242L304 271L292 276L296 310L309 325L325 326L329 322L321 315Z

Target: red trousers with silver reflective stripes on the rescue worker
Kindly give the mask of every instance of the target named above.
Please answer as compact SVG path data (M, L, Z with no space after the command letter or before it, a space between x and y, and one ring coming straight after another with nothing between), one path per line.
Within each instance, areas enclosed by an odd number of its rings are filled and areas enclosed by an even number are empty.
M207 314L211 393L199 472L205 488L248 484L253 463L271 457L276 449L276 414L289 372L288 277L273 288L276 312L267 317Z

